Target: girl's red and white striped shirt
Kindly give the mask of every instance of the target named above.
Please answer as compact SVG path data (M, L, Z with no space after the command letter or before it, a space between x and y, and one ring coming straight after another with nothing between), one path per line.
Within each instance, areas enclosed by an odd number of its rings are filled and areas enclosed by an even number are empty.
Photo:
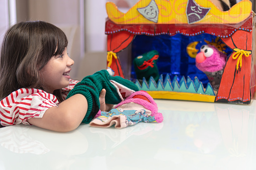
M66 99L68 92L78 83L69 80L69 85L62 89L62 98ZM57 98L43 90L21 88L12 92L0 101L0 120L2 126L14 124L28 124L31 117L43 117L45 111L53 106L58 106Z

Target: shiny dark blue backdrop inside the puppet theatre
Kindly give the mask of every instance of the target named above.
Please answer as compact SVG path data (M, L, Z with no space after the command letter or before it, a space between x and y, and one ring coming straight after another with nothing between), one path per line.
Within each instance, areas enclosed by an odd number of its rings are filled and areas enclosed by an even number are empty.
M204 87L206 87L209 82L208 78L195 66L195 58L191 58L187 54L187 46L191 42L199 41L200 43L196 48L200 49L202 45L206 44L204 40L212 42L215 38L216 36L209 34L200 34L192 37L181 34L177 34L175 36L136 36L132 42L132 61L143 53L151 50L157 50L159 53L157 67L159 74L163 75L163 79L166 74L169 74L171 80L177 75L178 81L182 76L185 76L186 79L189 76L192 80L194 80L195 77L198 77ZM231 51L231 49L226 47L226 53L228 55ZM131 78L136 79L133 63Z

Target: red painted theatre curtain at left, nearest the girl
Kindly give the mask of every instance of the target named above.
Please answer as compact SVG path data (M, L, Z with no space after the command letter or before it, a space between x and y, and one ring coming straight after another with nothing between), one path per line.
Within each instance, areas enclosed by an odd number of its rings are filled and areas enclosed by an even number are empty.
M127 31L121 31L108 35L108 52L111 52L111 56L108 56L108 66L115 71L115 76L124 78L124 73L121 67L118 52L125 49L134 39L135 35Z

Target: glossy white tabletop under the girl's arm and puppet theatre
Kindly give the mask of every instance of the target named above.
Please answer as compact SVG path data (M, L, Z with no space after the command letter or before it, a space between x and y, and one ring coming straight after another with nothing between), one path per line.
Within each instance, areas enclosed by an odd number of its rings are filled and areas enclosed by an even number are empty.
M256 169L255 106L155 100L162 123L0 128L0 169Z

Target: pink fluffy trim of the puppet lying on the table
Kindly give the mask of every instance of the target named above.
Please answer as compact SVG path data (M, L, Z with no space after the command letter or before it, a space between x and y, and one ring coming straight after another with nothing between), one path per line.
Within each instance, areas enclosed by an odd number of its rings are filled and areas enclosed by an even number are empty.
M142 95L146 97L150 101L150 103L144 99L133 98L135 95ZM118 108L118 106L121 106L126 103L130 103L130 102L140 104L144 106L146 109L150 110L152 112L150 116L154 116L156 122L160 123L163 121L162 113L158 112L157 104L155 103L154 99L146 91L141 90L131 94L124 101L117 104L115 108Z

